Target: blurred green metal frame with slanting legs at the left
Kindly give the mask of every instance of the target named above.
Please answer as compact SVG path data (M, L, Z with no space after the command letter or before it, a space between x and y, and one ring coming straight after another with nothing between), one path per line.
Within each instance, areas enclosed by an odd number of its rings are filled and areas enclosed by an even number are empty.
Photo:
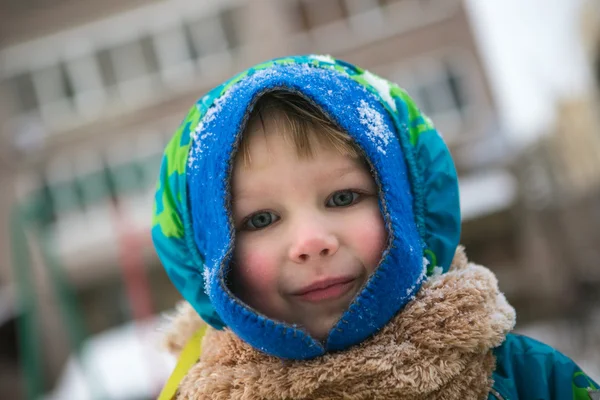
M18 288L18 304L21 316L18 320L19 353L28 400L39 399L45 391L42 359L41 326L39 299L33 279L34 271L30 252L30 238L39 244L43 265L48 270L51 287L56 292L62 319L69 333L69 343L80 365L82 348L88 334L83 314L76 301L73 288L69 285L64 268L54 251L52 232L48 229L55 211L68 212L81 206L113 199L148 188L154 182L161 162L161 154L145 157L137 162L121 164L114 168L104 168L79 176L72 181L43 187L32 193L27 199L12 209L10 229L12 247L12 265ZM143 179L151 177L151 179ZM62 203L63 209L53 209L50 193L78 193L81 202ZM85 195L82 195L85 193ZM148 216L150 219L150 215ZM85 369L84 369L85 371ZM101 390L88 380L94 398L101 398Z

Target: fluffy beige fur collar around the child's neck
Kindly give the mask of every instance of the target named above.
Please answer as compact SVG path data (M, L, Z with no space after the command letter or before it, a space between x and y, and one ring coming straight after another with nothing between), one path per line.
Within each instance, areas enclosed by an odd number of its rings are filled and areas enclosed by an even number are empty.
M483 399L491 349L514 323L494 274L459 248L449 272L431 277L382 330L343 352L284 361L209 327L177 399ZM180 349L200 324L185 309L170 348Z

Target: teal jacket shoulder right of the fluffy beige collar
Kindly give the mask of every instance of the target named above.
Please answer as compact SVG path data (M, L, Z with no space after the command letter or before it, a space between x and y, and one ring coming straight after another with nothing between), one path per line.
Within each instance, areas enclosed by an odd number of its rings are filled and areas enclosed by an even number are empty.
M509 334L494 350L491 400L590 400L600 387L571 359L526 336ZM590 393L591 392L591 393ZM595 396L595 397L592 397Z

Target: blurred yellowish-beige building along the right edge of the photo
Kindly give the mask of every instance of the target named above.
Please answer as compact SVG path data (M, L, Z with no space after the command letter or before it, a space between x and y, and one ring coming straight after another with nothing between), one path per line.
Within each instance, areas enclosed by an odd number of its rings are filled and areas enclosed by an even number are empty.
M528 254L544 257L553 278L540 275L540 280L554 282L559 309L584 327L600 305L599 1L586 2L579 25L592 84L556 105L553 129L529 146L515 167L526 242L536 248Z

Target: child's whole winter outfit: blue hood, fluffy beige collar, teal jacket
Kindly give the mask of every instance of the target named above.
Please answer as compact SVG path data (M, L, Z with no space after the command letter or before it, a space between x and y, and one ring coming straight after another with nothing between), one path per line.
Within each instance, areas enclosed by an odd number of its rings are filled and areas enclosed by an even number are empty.
M325 342L256 312L227 286L230 166L255 101L273 90L312 102L360 147L389 234ZM152 238L191 304L175 323L171 343L185 350L161 400L585 398L597 385L570 360L509 334L514 310L494 275L457 251L460 223L451 154L392 82L317 55L267 61L224 82L190 109L157 185ZM202 320L210 327L200 341Z

